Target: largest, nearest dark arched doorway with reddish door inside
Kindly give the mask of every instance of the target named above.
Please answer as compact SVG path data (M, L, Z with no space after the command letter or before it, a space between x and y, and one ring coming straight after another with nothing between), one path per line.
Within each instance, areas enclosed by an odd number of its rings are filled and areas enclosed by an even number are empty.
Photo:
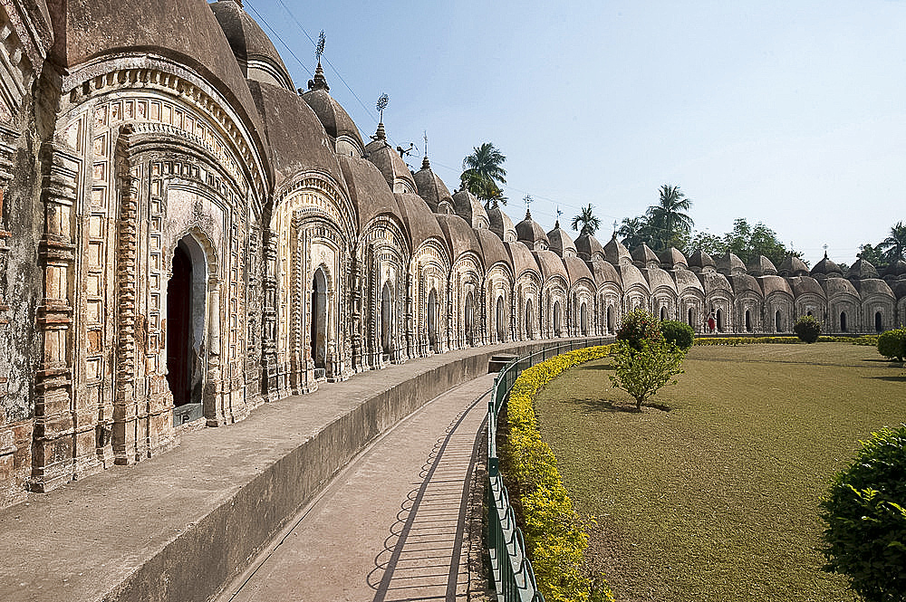
M205 358L207 262L191 234L173 251L172 276L167 284L167 382L173 394L173 424L204 415L202 387Z

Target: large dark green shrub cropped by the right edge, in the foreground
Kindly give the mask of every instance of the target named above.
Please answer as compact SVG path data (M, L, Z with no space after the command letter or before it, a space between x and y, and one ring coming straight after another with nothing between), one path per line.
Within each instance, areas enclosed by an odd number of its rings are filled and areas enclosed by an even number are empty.
M827 571L868 602L906 599L906 425L862 442L821 502Z

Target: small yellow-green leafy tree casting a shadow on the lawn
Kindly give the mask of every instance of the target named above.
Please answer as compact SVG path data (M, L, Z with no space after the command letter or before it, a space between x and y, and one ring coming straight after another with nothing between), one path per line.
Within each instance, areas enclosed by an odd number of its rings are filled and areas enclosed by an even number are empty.
M641 339L640 349L633 349L625 340L618 340L616 345L611 384L635 397L636 410L641 411L641 405L660 387L674 384L676 381L670 379L683 373L682 360L686 354L672 343Z

